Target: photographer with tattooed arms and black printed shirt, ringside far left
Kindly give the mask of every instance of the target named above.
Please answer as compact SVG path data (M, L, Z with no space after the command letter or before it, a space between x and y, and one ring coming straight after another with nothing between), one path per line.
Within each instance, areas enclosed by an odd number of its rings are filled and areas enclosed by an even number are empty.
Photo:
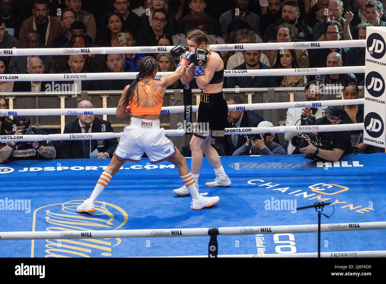
M28 125L27 125L28 124ZM13 120L14 132L11 135L47 135L41 129L31 128L28 117L15 116ZM27 127L27 128L26 128ZM15 131L16 130L16 131ZM3 142L0 144L0 163L10 160L54 159L56 150L51 141L39 142Z

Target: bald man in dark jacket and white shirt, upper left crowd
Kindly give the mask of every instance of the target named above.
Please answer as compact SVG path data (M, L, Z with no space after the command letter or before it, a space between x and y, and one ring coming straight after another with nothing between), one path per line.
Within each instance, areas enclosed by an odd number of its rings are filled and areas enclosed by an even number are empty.
M37 56L33 56L28 60L27 74L44 74L44 73L46 73L46 72L44 72L44 68L45 68L45 66L44 66L42 60ZM13 91L14 92L44 92L46 90L46 84L51 85L51 82L16 81L14 84Z

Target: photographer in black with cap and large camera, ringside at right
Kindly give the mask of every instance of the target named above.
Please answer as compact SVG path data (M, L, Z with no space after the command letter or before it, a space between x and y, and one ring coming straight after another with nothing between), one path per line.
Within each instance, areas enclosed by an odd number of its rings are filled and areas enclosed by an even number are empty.
M336 125L342 123L342 107L327 107L323 109L323 111L323 117L317 119L315 125ZM307 158L338 162L344 153L352 152L350 131L309 133L309 136L311 136L311 138L306 139L308 146L302 145L303 147L300 148L301 153L308 154L306 155ZM298 146L299 143L294 143L294 139L300 140L300 144L303 144L303 141L301 141L302 138L299 138L299 136L295 136L292 139L292 144L295 147ZM315 143L315 141L320 142Z

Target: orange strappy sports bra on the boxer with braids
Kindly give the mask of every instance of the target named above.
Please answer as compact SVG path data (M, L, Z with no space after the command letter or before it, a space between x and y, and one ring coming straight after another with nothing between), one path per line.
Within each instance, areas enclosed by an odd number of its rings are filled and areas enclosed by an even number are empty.
M142 89L139 90L138 94L129 102L131 112L134 116L161 113L164 97L150 88L150 84L153 81L153 79L150 80L146 85L142 82L138 82L138 84L142 86ZM143 107L145 103L147 106Z

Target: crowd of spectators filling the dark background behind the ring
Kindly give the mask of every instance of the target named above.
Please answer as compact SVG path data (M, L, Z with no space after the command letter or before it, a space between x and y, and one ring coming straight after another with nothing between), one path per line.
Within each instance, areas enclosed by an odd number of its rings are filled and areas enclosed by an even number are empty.
M0 0L0 48L186 46L185 34L190 29L206 32L210 44L365 39L367 27L386 26L384 4L384 0ZM139 61L145 56L141 53L41 56L38 55L38 50L36 53L34 56L0 57L0 74L135 72L139 68ZM159 71L175 70L170 54L147 55L156 58ZM228 70L361 66L365 61L364 48L222 51L220 55ZM335 84L346 86L343 94L351 99L359 94L357 85L363 85L363 81L364 74L352 73L316 77L239 76L224 78L223 87L305 87L307 100L320 100L323 93L318 92L315 85ZM122 90L130 82L74 80L58 83L71 83L76 90L82 91ZM311 82L313 83L310 84ZM0 92L44 91L46 83L51 82L0 82ZM195 83L192 82L191 85L194 87ZM169 88L181 87L181 82L177 81ZM5 108L6 98L0 97L0 102ZM227 102L239 104L241 99L237 95L230 96ZM81 105L89 107L86 102ZM334 109L332 115L328 115L327 111L318 108L289 109L286 125L295 125L301 115L315 116L320 119L320 123L331 122L331 117L337 117L335 114L339 114L342 123L358 123L363 120L361 105L345 106L342 113L338 112ZM11 131L8 126L12 121L5 117L0 119L2 134ZM266 120L252 111L232 111L229 112L228 121L230 127L256 127ZM97 131L94 129L96 126L108 124L94 118L93 122L87 125L79 117L71 126L66 126L65 133L80 129L82 132ZM109 127L111 128L111 125ZM277 134L266 134L264 137L257 137L256 141L240 135L225 136L226 138L216 139L215 145L220 147L225 155L247 152L264 155L275 151L283 154L283 150L278 147L280 145ZM284 153L301 152L291 145L292 137L293 134L290 133L285 135L289 145ZM115 141L102 141L103 145L94 145L94 142L90 146L90 153L97 149L104 153L98 155L98 158L111 157ZM8 146L12 148L15 145ZM84 145L73 143L71 147L76 146L79 146L81 151L71 150L59 157L85 156ZM357 146L360 151L368 152L369 148L372 147L366 147L361 141Z

